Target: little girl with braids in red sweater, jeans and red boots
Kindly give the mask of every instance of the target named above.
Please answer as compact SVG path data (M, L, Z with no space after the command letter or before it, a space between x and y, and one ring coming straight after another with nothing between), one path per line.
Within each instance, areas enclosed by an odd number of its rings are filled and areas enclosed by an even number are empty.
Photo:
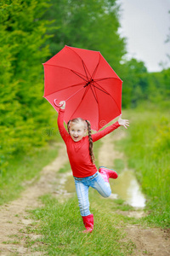
M82 221L86 230L83 232L92 232L94 229L94 215L89 211L88 189L96 189L100 195L109 197L111 195L111 186L109 178L117 178L115 171L99 167L99 172L94 165L93 143L101 137L105 137L111 131L114 131L120 125L127 129L129 122L127 119L119 117L115 124L106 127L103 131L91 134L91 125L88 120L81 118L71 119L68 124L68 132L64 126L65 102L59 102L58 126L61 137L63 138L67 154L70 160L73 177L75 180L77 198L79 202ZM86 133L88 131L88 136Z

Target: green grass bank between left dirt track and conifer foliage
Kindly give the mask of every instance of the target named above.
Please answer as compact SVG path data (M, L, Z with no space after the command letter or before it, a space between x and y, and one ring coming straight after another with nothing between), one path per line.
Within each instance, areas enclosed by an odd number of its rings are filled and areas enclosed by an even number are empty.
M26 185L39 177L42 167L57 157L57 148L48 146L34 150L34 154L16 156L9 161L7 171L0 177L0 205L20 196Z

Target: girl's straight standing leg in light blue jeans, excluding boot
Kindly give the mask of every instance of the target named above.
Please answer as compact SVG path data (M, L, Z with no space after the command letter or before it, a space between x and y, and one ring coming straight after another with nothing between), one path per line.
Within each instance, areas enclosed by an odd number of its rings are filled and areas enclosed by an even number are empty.
M80 208L80 213L82 216L90 215L89 211L89 200L88 200L88 189L89 186L85 183L82 183L82 178L74 177L75 179L75 186L77 189L77 198Z

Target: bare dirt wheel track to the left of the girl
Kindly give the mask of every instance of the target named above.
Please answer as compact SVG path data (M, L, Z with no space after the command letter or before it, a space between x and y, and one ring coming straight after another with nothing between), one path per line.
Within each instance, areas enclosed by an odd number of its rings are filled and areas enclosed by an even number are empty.
M56 172L68 161L65 144L58 143L56 147L59 147L59 155L50 165L42 169L39 181L31 184L19 199L1 207L0 255L42 255L38 252L31 253L30 248L26 247L26 236L30 239L38 238L36 235L27 234L26 229L31 226L33 220L27 217L26 211L41 207L42 203L38 197L55 193L65 181L65 175L61 179L56 177Z

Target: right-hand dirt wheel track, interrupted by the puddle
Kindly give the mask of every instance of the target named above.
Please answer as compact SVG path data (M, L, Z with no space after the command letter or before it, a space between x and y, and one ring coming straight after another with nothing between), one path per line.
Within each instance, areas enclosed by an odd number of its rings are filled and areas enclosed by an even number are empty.
M111 167L115 159L122 159L127 170L126 158L122 152L116 151L114 142L125 137L125 132L120 128L119 131L113 132L101 139L102 145L99 148L99 165ZM114 196L113 196L114 199ZM128 217L140 218L143 217L142 212L129 211L117 212ZM144 228L136 224L127 224L125 229L127 239L133 241L135 247L133 255L135 256L169 256L170 255L170 238L165 230L159 228ZM126 238L125 238L126 239Z

